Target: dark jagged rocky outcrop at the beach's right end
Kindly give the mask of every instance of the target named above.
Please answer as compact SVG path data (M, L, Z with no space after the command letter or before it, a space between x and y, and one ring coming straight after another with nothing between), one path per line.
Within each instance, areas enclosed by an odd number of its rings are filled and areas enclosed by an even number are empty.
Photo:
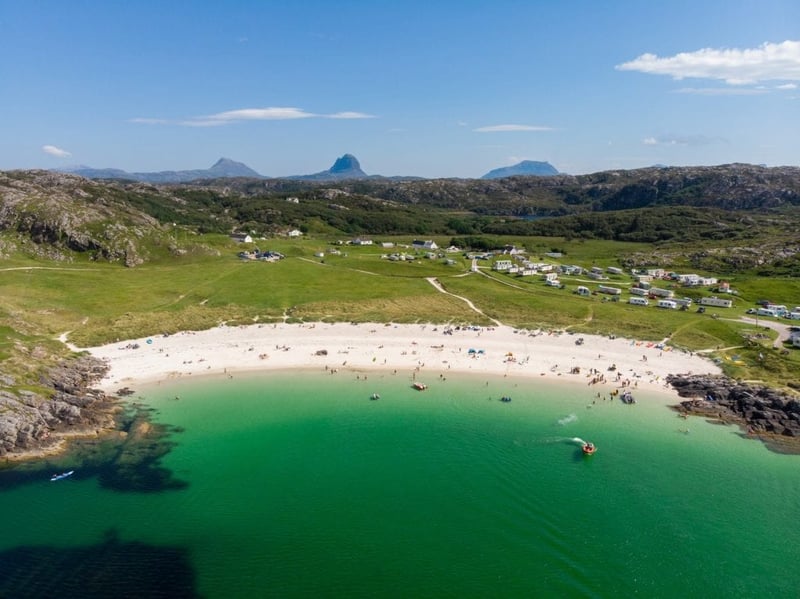
M724 376L670 375L678 395L689 398L676 409L683 414L738 424L781 453L800 453L800 399L769 387Z

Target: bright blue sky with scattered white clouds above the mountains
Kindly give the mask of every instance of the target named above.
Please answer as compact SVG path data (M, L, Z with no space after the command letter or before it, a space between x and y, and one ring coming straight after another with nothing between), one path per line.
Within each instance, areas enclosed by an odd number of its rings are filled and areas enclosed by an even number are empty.
M797 0L0 0L0 169L800 162Z

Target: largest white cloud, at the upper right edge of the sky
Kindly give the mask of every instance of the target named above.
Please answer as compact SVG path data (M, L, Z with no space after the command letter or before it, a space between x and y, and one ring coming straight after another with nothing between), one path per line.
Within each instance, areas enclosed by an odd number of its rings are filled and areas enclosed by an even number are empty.
M757 48L743 50L703 48L663 58L648 53L614 68L619 71L669 75L673 79L719 79L730 85L781 79L798 81L800 41L787 40L779 44L766 42Z

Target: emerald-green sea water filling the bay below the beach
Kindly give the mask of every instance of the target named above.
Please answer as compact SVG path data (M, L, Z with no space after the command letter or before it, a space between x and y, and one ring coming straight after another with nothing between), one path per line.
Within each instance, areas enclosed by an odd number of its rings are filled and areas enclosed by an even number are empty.
M800 456L643 393L593 405L582 384L425 382L296 372L141 392L175 427L152 464L174 484L109 487L79 457L0 472L0 596L797 596Z

